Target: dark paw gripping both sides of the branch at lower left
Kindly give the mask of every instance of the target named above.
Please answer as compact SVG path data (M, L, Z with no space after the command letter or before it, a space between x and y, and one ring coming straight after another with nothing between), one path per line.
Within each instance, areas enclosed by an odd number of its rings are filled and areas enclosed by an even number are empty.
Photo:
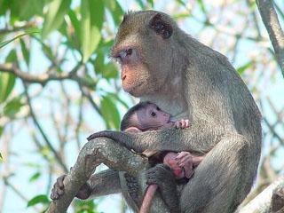
M58 200L62 194L64 193L64 178L67 175L62 175L57 178L55 184L53 185L53 188L51 190L51 200ZM79 189L79 192L76 193L76 197L82 200L86 200L91 195L91 186L88 183L84 183L81 188Z

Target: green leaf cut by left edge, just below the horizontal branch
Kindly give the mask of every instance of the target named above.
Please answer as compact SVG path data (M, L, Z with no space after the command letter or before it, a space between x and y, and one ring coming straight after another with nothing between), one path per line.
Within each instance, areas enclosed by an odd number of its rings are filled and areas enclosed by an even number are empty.
M0 73L0 103L10 95L15 85L15 75L9 73Z

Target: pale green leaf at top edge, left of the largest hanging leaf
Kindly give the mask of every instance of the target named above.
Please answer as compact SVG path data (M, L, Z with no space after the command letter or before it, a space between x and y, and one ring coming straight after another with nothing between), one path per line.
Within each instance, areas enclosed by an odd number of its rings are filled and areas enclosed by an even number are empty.
M53 0L49 4L47 12L44 16L43 22L43 39L48 36L52 30L60 27L64 20L65 14L67 14L71 0Z

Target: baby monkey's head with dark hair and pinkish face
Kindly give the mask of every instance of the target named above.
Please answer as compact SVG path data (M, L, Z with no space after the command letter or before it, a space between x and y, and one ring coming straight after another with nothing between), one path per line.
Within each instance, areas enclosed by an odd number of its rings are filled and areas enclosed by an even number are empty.
M162 111L159 106L151 102L141 102L133 106L123 116L121 130L139 132L146 130L160 130L173 127L175 122L170 120L170 114Z

